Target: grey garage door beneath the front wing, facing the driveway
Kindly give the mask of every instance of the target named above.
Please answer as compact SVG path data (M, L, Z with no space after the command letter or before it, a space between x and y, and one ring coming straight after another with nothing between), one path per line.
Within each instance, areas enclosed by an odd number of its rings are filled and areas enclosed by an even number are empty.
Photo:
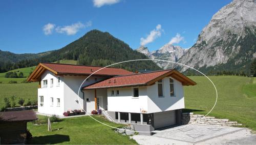
M176 124L175 110L154 113L154 127L161 128Z

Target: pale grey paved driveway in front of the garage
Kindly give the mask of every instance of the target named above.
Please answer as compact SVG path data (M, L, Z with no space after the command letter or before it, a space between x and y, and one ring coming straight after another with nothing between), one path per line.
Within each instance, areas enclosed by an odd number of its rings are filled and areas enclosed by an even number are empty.
M139 144L256 144L256 135L246 128L210 125L181 127L163 129L161 131L164 132L152 136L135 135L133 139Z

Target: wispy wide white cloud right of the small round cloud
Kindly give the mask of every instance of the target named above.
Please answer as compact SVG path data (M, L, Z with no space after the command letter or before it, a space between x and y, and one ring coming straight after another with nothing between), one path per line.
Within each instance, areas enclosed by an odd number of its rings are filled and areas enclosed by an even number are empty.
M81 22L77 22L71 25L66 26L58 26L56 27L55 31L57 33L66 33L67 35L75 35L81 28L86 28L92 25L91 21L83 24Z

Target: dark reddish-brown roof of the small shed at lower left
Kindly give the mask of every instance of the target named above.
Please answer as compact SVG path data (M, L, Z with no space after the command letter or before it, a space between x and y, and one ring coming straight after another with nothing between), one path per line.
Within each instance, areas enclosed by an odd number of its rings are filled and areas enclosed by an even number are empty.
M37 119L34 110L0 112L0 117L0 122L33 121Z

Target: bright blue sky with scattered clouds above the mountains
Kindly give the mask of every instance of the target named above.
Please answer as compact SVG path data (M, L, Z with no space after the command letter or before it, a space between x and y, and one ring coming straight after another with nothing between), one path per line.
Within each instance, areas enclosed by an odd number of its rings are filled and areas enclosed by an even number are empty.
M3 0L0 49L14 53L60 49L93 29L109 32L133 49L144 44L152 51L166 43L189 48L212 15L230 2Z

